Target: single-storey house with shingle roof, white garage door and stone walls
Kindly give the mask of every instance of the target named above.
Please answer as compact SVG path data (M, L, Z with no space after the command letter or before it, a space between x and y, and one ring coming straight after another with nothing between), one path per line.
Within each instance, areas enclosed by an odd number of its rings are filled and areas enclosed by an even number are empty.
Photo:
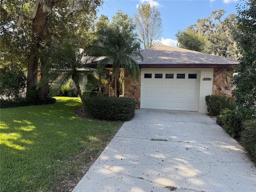
M124 97L134 98L137 109L207 113L205 96L232 96L237 60L166 45L141 54L139 80L124 80Z

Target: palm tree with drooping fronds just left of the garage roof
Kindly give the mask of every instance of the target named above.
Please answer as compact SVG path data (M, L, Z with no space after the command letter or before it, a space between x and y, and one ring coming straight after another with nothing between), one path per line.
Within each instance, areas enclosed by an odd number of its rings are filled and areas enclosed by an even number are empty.
M122 31L118 26L106 26L96 32L90 50L90 54L104 58L98 62L97 68L100 71L105 69L107 64L112 64L112 78L119 78L119 69L123 68L128 72L130 78L140 76L140 69L136 58L143 59L140 54L140 44L136 39L136 34L130 31Z

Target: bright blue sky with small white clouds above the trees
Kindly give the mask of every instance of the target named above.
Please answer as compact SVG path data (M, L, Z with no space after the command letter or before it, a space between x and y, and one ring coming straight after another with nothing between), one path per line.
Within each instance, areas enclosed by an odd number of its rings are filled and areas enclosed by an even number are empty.
M214 10L224 9L226 13L222 20L228 15L236 14L236 5L239 0L104 0L99 8L100 14L107 15L110 20L118 9L134 18L138 13L137 6L148 3L156 6L161 14L163 32L159 40L162 44L176 46L175 34L191 24L195 24L199 18L206 18Z

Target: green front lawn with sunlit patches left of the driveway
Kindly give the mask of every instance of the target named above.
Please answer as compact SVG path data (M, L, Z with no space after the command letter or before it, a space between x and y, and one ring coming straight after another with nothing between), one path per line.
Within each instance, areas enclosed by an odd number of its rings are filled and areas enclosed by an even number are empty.
M1 109L0 191L70 191L123 122L74 114L79 98Z

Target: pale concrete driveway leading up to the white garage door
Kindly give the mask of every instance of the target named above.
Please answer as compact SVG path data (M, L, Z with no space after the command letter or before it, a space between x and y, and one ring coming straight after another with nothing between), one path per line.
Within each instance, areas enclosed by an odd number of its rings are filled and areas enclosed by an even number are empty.
M256 167L198 112L136 110L73 192L256 192Z

